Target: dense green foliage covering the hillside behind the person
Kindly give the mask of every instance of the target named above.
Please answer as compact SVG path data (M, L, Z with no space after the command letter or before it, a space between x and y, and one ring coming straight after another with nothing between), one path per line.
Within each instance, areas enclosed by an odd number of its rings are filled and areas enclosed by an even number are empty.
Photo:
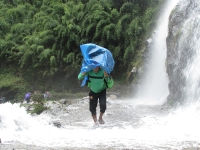
M27 90L73 92L85 43L108 48L116 62L112 76L125 79L141 65L163 1L1 0L0 90L21 99Z

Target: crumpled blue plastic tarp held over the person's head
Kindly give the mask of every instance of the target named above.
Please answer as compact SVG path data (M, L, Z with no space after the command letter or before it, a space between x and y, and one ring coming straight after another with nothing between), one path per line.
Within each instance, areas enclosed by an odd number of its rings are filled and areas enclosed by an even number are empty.
M81 73L88 72L98 66L110 74L114 68L115 61L112 53L101 46L93 43L82 44L80 49L83 55L83 62L81 67ZM85 77L81 86L84 86L88 77Z

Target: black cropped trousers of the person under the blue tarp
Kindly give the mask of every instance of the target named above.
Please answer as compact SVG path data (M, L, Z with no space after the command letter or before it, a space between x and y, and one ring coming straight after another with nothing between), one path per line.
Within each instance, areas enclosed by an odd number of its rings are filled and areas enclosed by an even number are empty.
M106 110L106 89L99 93L94 93L92 91L89 92L89 109L92 116L97 114L96 108L98 101L100 105L100 112L104 113Z

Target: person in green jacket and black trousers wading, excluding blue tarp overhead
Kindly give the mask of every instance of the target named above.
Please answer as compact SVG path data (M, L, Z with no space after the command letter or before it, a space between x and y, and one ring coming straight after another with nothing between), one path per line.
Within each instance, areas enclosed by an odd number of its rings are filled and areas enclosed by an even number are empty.
M88 76L89 92L89 110L95 124L104 124L103 114L106 111L106 89L109 84L113 84L112 78L100 67L96 67L89 72L83 72L78 75L78 79L82 80ZM97 122L96 108L100 104L100 115Z

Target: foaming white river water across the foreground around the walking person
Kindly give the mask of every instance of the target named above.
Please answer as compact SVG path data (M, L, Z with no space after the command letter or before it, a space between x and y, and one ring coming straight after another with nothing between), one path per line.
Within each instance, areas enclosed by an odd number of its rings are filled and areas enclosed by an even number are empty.
M48 113L31 116L19 104L0 105L2 144L15 145L17 142L49 149L200 147L200 111L197 105L169 111L161 106L130 105L126 100L113 100L108 104L108 113L104 117L106 124L99 126L93 124L89 113L85 114L87 108L87 103L78 102L62 108L68 112L54 118ZM53 125L55 119L62 122L60 128ZM73 123L74 120L78 121Z

